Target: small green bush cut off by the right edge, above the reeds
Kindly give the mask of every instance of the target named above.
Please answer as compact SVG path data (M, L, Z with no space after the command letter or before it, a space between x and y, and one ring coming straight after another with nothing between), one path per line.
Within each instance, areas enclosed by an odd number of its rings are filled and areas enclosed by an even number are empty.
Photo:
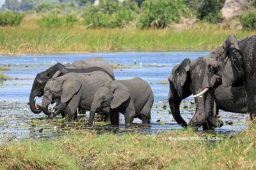
M244 29L256 28L256 11L249 11L239 16L239 21Z

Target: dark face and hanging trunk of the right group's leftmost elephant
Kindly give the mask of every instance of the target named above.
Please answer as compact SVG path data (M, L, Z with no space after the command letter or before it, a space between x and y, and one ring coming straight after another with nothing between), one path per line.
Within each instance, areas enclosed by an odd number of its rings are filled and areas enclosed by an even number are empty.
M180 102L191 94L191 92L189 92L189 68L190 60L184 59L181 64L173 67L172 74L170 74L168 78L170 83L168 96L170 109L172 111L173 118L179 125L182 125L182 127L188 126L186 121L180 116Z

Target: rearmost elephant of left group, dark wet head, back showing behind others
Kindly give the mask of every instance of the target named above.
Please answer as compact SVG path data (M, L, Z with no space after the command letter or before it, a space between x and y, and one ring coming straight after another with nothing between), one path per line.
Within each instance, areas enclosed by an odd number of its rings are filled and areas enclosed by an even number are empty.
M48 80L54 77L58 77L67 73L90 73L92 71L103 71L107 73L112 80L115 80L115 75L112 67L108 62L102 60L99 57L87 60L76 60L70 66L64 66L57 63L49 69L36 74L36 78L33 82L32 89L29 97L29 106L33 113L41 113L40 106L36 106L36 97L44 96L44 87Z

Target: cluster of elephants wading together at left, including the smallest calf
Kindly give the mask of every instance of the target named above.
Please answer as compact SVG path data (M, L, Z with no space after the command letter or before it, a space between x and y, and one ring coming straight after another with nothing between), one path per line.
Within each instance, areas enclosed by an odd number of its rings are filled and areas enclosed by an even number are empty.
M36 97L42 96L39 106ZM49 110L52 103L56 106ZM115 80L112 67L100 58L77 60L65 66L58 63L38 73L29 97L34 113L61 114L67 121L77 120L77 109L90 110L90 126L96 112L102 112L113 125L119 124L119 113L124 114L126 125L131 125L134 118L149 124L153 103L154 96L146 81Z

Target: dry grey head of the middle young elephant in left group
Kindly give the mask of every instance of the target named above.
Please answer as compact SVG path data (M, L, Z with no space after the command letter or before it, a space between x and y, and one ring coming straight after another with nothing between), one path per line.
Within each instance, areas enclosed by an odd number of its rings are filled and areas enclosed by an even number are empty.
M81 82L72 76L61 76L47 81L44 88L44 98L42 101L42 110L45 115L51 115L48 110L51 103L61 101L67 103L81 89Z

